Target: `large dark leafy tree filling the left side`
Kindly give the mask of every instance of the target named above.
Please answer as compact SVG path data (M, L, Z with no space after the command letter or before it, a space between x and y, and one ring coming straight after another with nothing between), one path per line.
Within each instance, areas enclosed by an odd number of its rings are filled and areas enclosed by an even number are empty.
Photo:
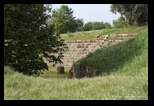
M46 10L51 8L43 4L4 4L4 65L39 75L48 69L44 58L62 62L64 40L47 26Z

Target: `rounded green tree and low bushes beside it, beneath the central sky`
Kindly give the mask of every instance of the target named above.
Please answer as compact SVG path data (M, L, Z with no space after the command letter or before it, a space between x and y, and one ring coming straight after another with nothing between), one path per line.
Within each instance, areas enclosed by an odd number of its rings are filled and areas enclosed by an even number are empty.
M88 22L84 24L83 19L76 19L73 16L73 10L67 5L62 5L59 9L54 9L52 11L49 24L60 34L111 28L108 22Z

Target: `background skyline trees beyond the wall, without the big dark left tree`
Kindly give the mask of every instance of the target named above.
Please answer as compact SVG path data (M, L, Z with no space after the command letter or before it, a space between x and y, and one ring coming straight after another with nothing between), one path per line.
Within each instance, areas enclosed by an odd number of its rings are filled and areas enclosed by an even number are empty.
M113 20L113 26L108 22L87 22L83 19L75 19L73 10L67 5L53 10L51 23L59 33L89 31L107 28L122 28L131 25L145 25L148 23L148 4L111 4L110 11L121 14L117 20Z

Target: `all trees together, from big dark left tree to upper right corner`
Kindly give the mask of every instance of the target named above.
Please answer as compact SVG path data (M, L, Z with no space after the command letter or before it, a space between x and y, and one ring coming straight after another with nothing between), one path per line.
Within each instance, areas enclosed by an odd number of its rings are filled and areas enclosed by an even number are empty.
M113 21L114 27L148 23L148 4L112 4L111 12L121 14ZM4 65L27 75L39 75L48 69L44 58L53 65L62 63L67 46L61 33L105 28L112 26L108 22L84 24L67 5L52 10L43 4L4 4Z

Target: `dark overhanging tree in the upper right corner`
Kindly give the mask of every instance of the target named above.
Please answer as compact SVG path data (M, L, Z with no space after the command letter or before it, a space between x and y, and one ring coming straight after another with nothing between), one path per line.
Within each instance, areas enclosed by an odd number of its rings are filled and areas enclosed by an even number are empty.
M148 4L112 4L111 12L124 15L130 25L148 22Z

